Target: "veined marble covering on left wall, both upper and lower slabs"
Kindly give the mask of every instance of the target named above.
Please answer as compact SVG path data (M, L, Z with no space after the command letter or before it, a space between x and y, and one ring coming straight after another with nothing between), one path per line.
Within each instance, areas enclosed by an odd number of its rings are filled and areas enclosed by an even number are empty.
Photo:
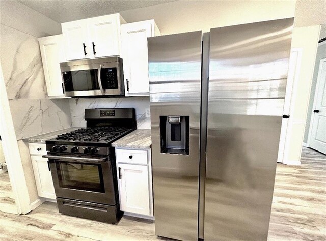
M17 140L71 126L69 100L48 99L37 37L0 24L0 56Z

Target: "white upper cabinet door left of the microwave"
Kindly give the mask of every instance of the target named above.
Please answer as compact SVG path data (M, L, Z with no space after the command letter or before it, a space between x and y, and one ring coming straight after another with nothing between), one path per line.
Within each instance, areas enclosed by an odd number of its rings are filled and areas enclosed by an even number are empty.
M65 97L62 87L60 62L65 62L62 35L39 39L42 64L49 98Z

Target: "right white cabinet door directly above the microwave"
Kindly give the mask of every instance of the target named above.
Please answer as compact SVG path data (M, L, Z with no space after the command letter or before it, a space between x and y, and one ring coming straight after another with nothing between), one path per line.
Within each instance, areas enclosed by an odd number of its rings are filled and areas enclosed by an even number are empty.
M118 15L88 19L89 51L94 57L120 55L120 21Z

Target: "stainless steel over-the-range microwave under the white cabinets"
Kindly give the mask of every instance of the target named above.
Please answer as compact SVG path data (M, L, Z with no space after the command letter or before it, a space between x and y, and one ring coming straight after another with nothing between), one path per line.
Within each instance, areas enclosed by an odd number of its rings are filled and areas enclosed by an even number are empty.
M107 57L60 63L65 96L124 95L122 59Z

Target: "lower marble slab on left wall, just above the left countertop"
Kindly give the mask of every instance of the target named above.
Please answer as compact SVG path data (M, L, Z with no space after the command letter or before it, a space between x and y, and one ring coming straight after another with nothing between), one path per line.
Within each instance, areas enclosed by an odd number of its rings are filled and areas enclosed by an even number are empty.
M67 99L11 99L17 140L71 127Z

